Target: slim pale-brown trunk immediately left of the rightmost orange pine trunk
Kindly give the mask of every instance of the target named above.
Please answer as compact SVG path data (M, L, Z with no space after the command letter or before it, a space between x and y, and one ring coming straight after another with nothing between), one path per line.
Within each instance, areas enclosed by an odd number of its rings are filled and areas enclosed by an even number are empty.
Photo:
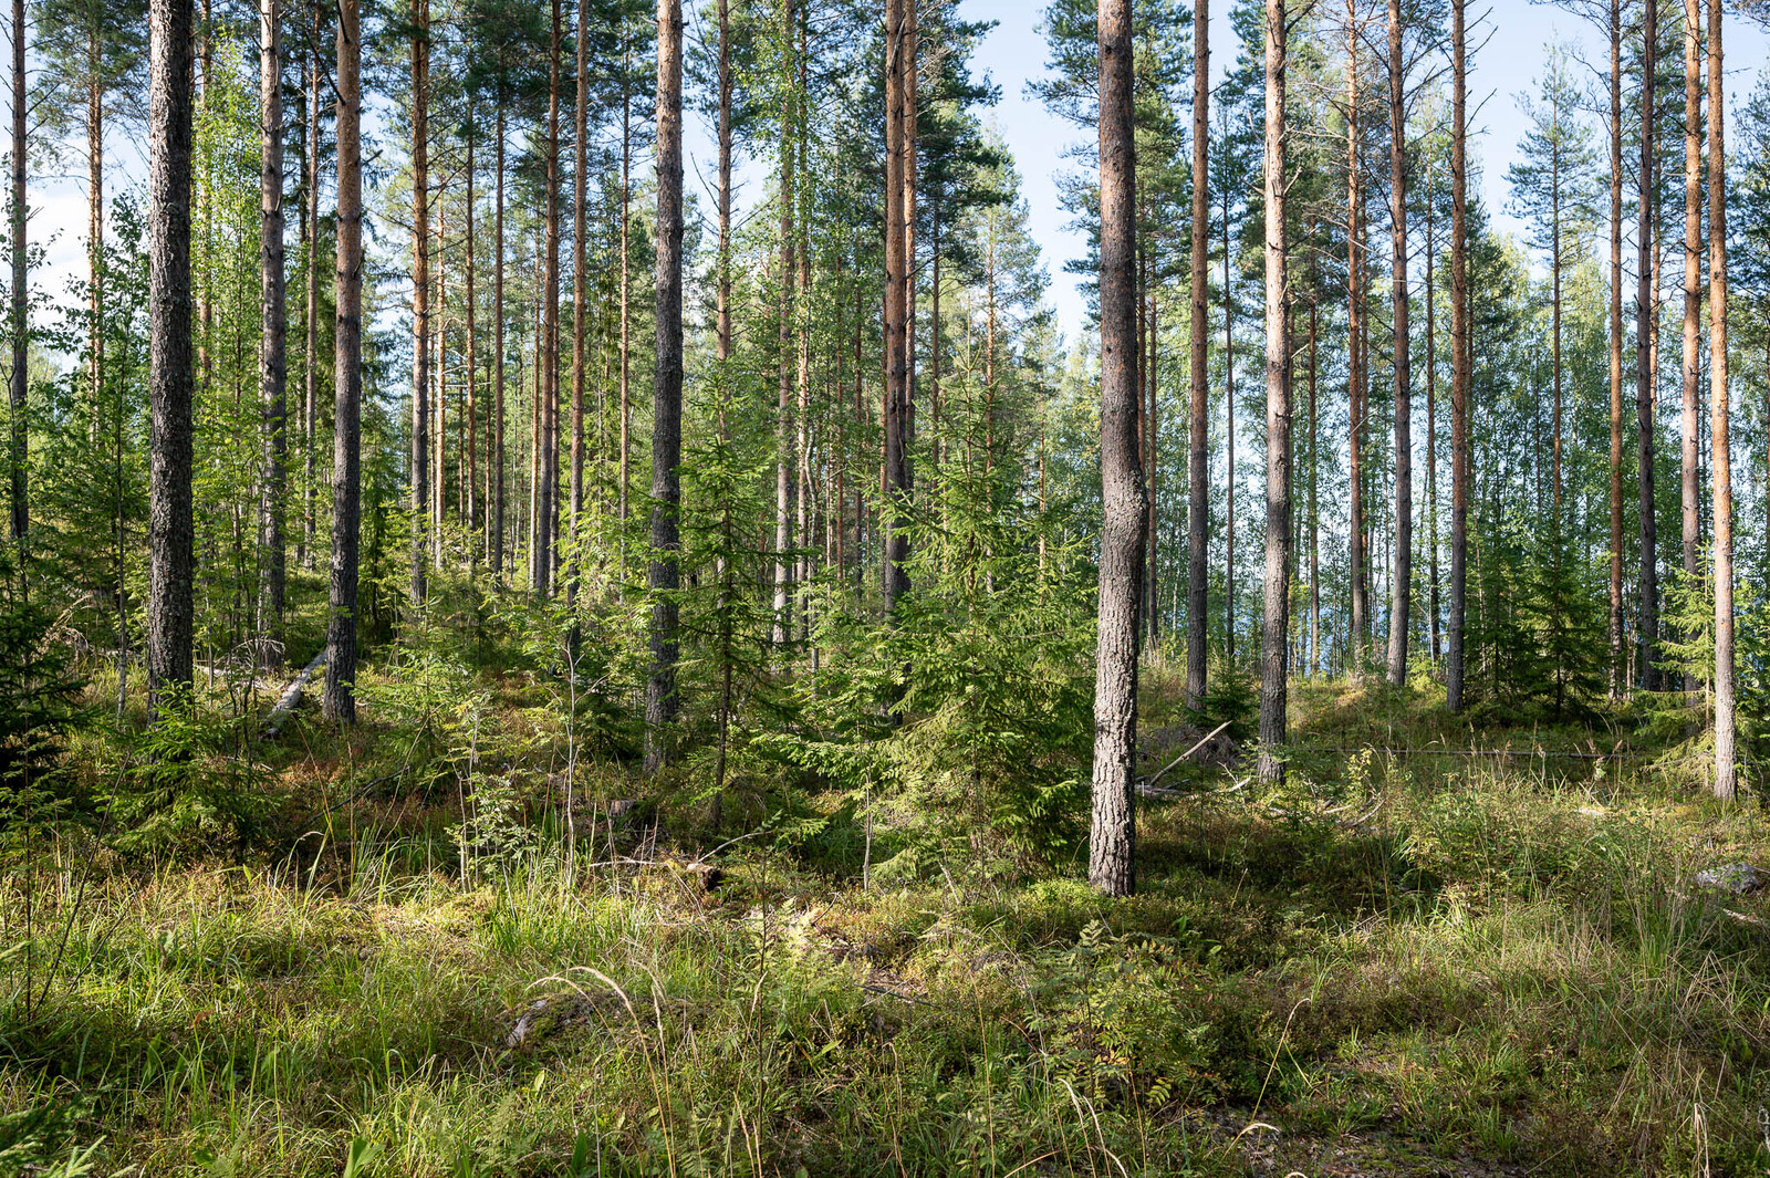
M1703 0L1683 0L1683 352L1680 371L1680 476L1683 492L1683 571L1697 575L1703 539L1701 426L1697 382L1703 370ZM1696 686L1687 683L1687 686Z

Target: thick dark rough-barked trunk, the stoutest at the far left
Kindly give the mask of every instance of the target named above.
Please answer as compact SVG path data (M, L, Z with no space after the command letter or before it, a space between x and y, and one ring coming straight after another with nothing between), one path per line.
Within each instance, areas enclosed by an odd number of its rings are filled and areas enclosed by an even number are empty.
M14 16L16 12L14 9ZM18 42L23 44L23 37ZM150 0L147 85L150 327L147 391L152 409L147 501L147 692L149 706L163 709L173 706L191 685L195 621L189 0ZM14 161L21 159L21 152L14 154ZM16 232L18 221L14 221ZM14 253L14 265L23 256L23 251ZM14 363L16 359L14 354ZM18 373L23 373L23 364L18 364ZM14 421L18 419L14 416ZM14 460L18 460L16 451ZM23 536L27 522L21 470L14 467L14 539Z

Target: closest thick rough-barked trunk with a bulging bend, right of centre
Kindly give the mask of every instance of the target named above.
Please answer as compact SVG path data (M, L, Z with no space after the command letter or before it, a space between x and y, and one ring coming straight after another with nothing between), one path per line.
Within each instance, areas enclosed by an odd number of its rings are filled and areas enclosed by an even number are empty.
M1089 883L1129 895L1136 819L1136 660L1143 470L1136 444L1136 170L1131 0L1099 4L1101 78L1101 582L1094 681L1094 815Z

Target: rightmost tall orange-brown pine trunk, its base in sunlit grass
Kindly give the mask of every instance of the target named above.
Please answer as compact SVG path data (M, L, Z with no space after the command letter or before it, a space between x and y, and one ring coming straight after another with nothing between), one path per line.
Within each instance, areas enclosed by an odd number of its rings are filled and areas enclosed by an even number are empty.
M1715 796L1738 789L1733 716L1733 455L1728 442L1728 152L1720 0L1708 0L1708 432L1715 462Z

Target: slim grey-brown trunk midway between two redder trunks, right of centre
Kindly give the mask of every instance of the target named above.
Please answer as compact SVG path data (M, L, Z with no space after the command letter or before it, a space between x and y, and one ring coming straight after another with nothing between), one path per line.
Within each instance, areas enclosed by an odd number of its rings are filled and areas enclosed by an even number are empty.
M1395 285L1395 568L1389 577L1389 683L1407 683L1414 580L1412 371L1407 334L1407 111L1402 104L1402 0L1389 0L1389 235ZM1559 304L1558 304L1559 306ZM1559 402L1558 402L1559 403ZM1289 417L1287 417L1289 421Z

